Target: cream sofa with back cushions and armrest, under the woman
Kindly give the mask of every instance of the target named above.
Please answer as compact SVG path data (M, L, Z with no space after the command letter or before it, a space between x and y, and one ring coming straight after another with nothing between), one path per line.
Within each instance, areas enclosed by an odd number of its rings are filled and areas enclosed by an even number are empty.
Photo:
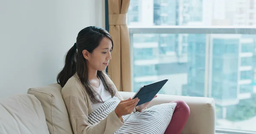
M119 92L124 99L134 92ZM215 134L215 103L212 98L158 95L150 106L184 100L190 117L182 134ZM0 100L0 134L73 134L61 86L50 84L28 89L27 94Z

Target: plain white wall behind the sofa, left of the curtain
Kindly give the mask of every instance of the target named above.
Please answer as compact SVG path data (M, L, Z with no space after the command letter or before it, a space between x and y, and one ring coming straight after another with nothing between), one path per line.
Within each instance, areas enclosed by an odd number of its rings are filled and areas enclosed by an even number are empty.
M0 0L0 98L55 83L89 25L105 27L105 0Z

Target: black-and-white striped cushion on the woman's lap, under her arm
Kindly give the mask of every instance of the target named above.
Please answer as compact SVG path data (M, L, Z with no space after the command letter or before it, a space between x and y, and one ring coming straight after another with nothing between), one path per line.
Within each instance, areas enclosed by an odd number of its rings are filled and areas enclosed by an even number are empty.
M88 122L99 123L108 116L119 104L116 97L111 98L91 113ZM163 134L169 125L176 103L163 103L143 110L122 116L124 125L114 134Z

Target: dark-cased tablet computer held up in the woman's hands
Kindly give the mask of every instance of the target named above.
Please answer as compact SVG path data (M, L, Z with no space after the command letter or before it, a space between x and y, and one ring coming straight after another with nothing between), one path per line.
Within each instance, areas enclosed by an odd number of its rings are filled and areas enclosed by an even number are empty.
M144 85L140 87L140 89L136 92L136 94L133 96L134 98L139 98L140 101L136 106L139 106L141 104L147 103L148 101L151 101L154 96L162 89L163 85L166 84L168 79L165 79L163 81L158 81L152 84Z

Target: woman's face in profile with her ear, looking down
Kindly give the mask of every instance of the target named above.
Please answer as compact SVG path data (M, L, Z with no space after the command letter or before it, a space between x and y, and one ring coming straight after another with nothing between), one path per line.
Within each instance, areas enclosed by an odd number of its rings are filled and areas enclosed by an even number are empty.
M87 59L87 65L90 69L103 71L107 68L111 59L111 51L112 42L110 39L104 37L92 53L83 50L83 56Z

